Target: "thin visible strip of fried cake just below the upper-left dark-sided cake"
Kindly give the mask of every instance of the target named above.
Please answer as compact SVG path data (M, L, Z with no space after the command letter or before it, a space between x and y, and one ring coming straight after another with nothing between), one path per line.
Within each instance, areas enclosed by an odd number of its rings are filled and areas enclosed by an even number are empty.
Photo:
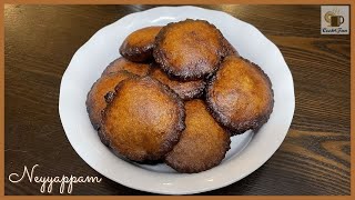
M106 69L102 72L102 76L118 72L121 70L125 70L128 72L138 74L138 76L146 76L150 70L150 64L148 63L138 63L126 60L125 58L121 57L112 61Z

